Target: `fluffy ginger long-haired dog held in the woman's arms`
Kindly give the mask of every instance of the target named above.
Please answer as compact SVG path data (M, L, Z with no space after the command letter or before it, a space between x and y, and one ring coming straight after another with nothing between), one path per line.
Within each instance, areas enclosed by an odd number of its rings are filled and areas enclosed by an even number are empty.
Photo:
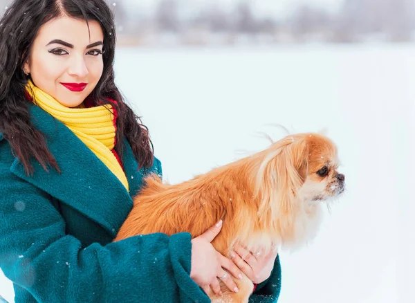
M197 237L223 219L212 244L225 256L236 241L252 252L298 248L315 237L323 201L344 190L337 168L337 149L329 138L296 134L177 185L151 175L115 241L153 232ZM248 302L252 282L234 281L239 293L226 291L221 282L223 297L208 293L212 301Z

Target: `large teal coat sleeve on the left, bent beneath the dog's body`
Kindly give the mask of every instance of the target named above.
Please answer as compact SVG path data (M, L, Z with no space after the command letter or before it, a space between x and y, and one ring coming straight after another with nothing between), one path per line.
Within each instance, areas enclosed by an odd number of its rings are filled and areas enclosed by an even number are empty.
M3 147L0 267L38 302L210 302L190 278L190 234L82 248L65 234L50 196L10 172L10 148Z

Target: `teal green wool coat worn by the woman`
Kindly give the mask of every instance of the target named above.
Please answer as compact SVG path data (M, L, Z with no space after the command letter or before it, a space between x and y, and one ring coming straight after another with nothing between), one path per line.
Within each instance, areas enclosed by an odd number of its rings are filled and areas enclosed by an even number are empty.
M35 105L30 113L62 172L33 161L26 176L0 134L0 267L15 302L210 302L190 278L189 233L111 243L143 176L161 174L160 161L137 170L126 142L127 192L70 129ZM277 259L250 302L276 302L280 279Z

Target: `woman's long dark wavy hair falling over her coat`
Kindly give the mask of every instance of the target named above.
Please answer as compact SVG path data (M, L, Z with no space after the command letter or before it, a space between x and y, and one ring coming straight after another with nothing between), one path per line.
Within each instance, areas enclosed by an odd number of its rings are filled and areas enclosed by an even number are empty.
M124 102L114 84L113 61L116 30L113 13L104 0L15 0L0 20L0 132L8 140L14 156L19 158L26 174L33 174L30 160L37 160L44 169L59 167L46 145L44 134L33 127L28 110L25 86L30 76L23 64L30 55L39 28L61 16L98 21L104 33L104 70L100 81L88 96L93 104L111 103L118 111L116 152L122 158L124 138L127 138L141 167L153 163L153 145L149 132ZM116 102L111 102L116 100Z

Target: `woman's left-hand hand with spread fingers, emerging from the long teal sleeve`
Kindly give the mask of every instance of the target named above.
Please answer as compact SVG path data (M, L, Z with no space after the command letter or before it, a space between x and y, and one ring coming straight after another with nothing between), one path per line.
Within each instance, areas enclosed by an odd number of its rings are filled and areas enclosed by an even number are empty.
M219 234L221 228L222 220L199 237L192 239L192 269L190 277L203 288L205 293L209 293L209 288L212 288L216 295L222 295L219 279L231 291L237 293L239 289L232 277L230 277L230 273L237 279L242 278L239 268L230 259L217 252L210 243Z

